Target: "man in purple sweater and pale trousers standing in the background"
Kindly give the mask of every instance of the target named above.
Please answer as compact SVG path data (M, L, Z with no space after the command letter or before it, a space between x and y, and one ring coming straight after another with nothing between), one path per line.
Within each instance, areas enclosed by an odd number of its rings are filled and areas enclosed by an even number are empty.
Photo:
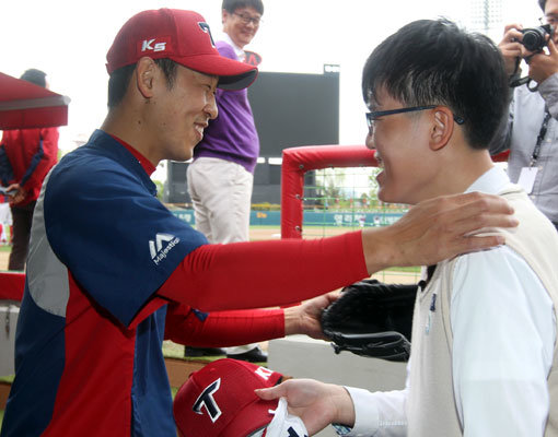
M224 40L217 43L221 56L244 61L244 46L259 28L261 0L223 0ZM246 90L217 91L219 116L210 121L188 166L188 192L196 228L210 243L247 241L254 169L259 139ZM189 347L185 356L224 354L231 358L266 362L257 344L219 349Z

